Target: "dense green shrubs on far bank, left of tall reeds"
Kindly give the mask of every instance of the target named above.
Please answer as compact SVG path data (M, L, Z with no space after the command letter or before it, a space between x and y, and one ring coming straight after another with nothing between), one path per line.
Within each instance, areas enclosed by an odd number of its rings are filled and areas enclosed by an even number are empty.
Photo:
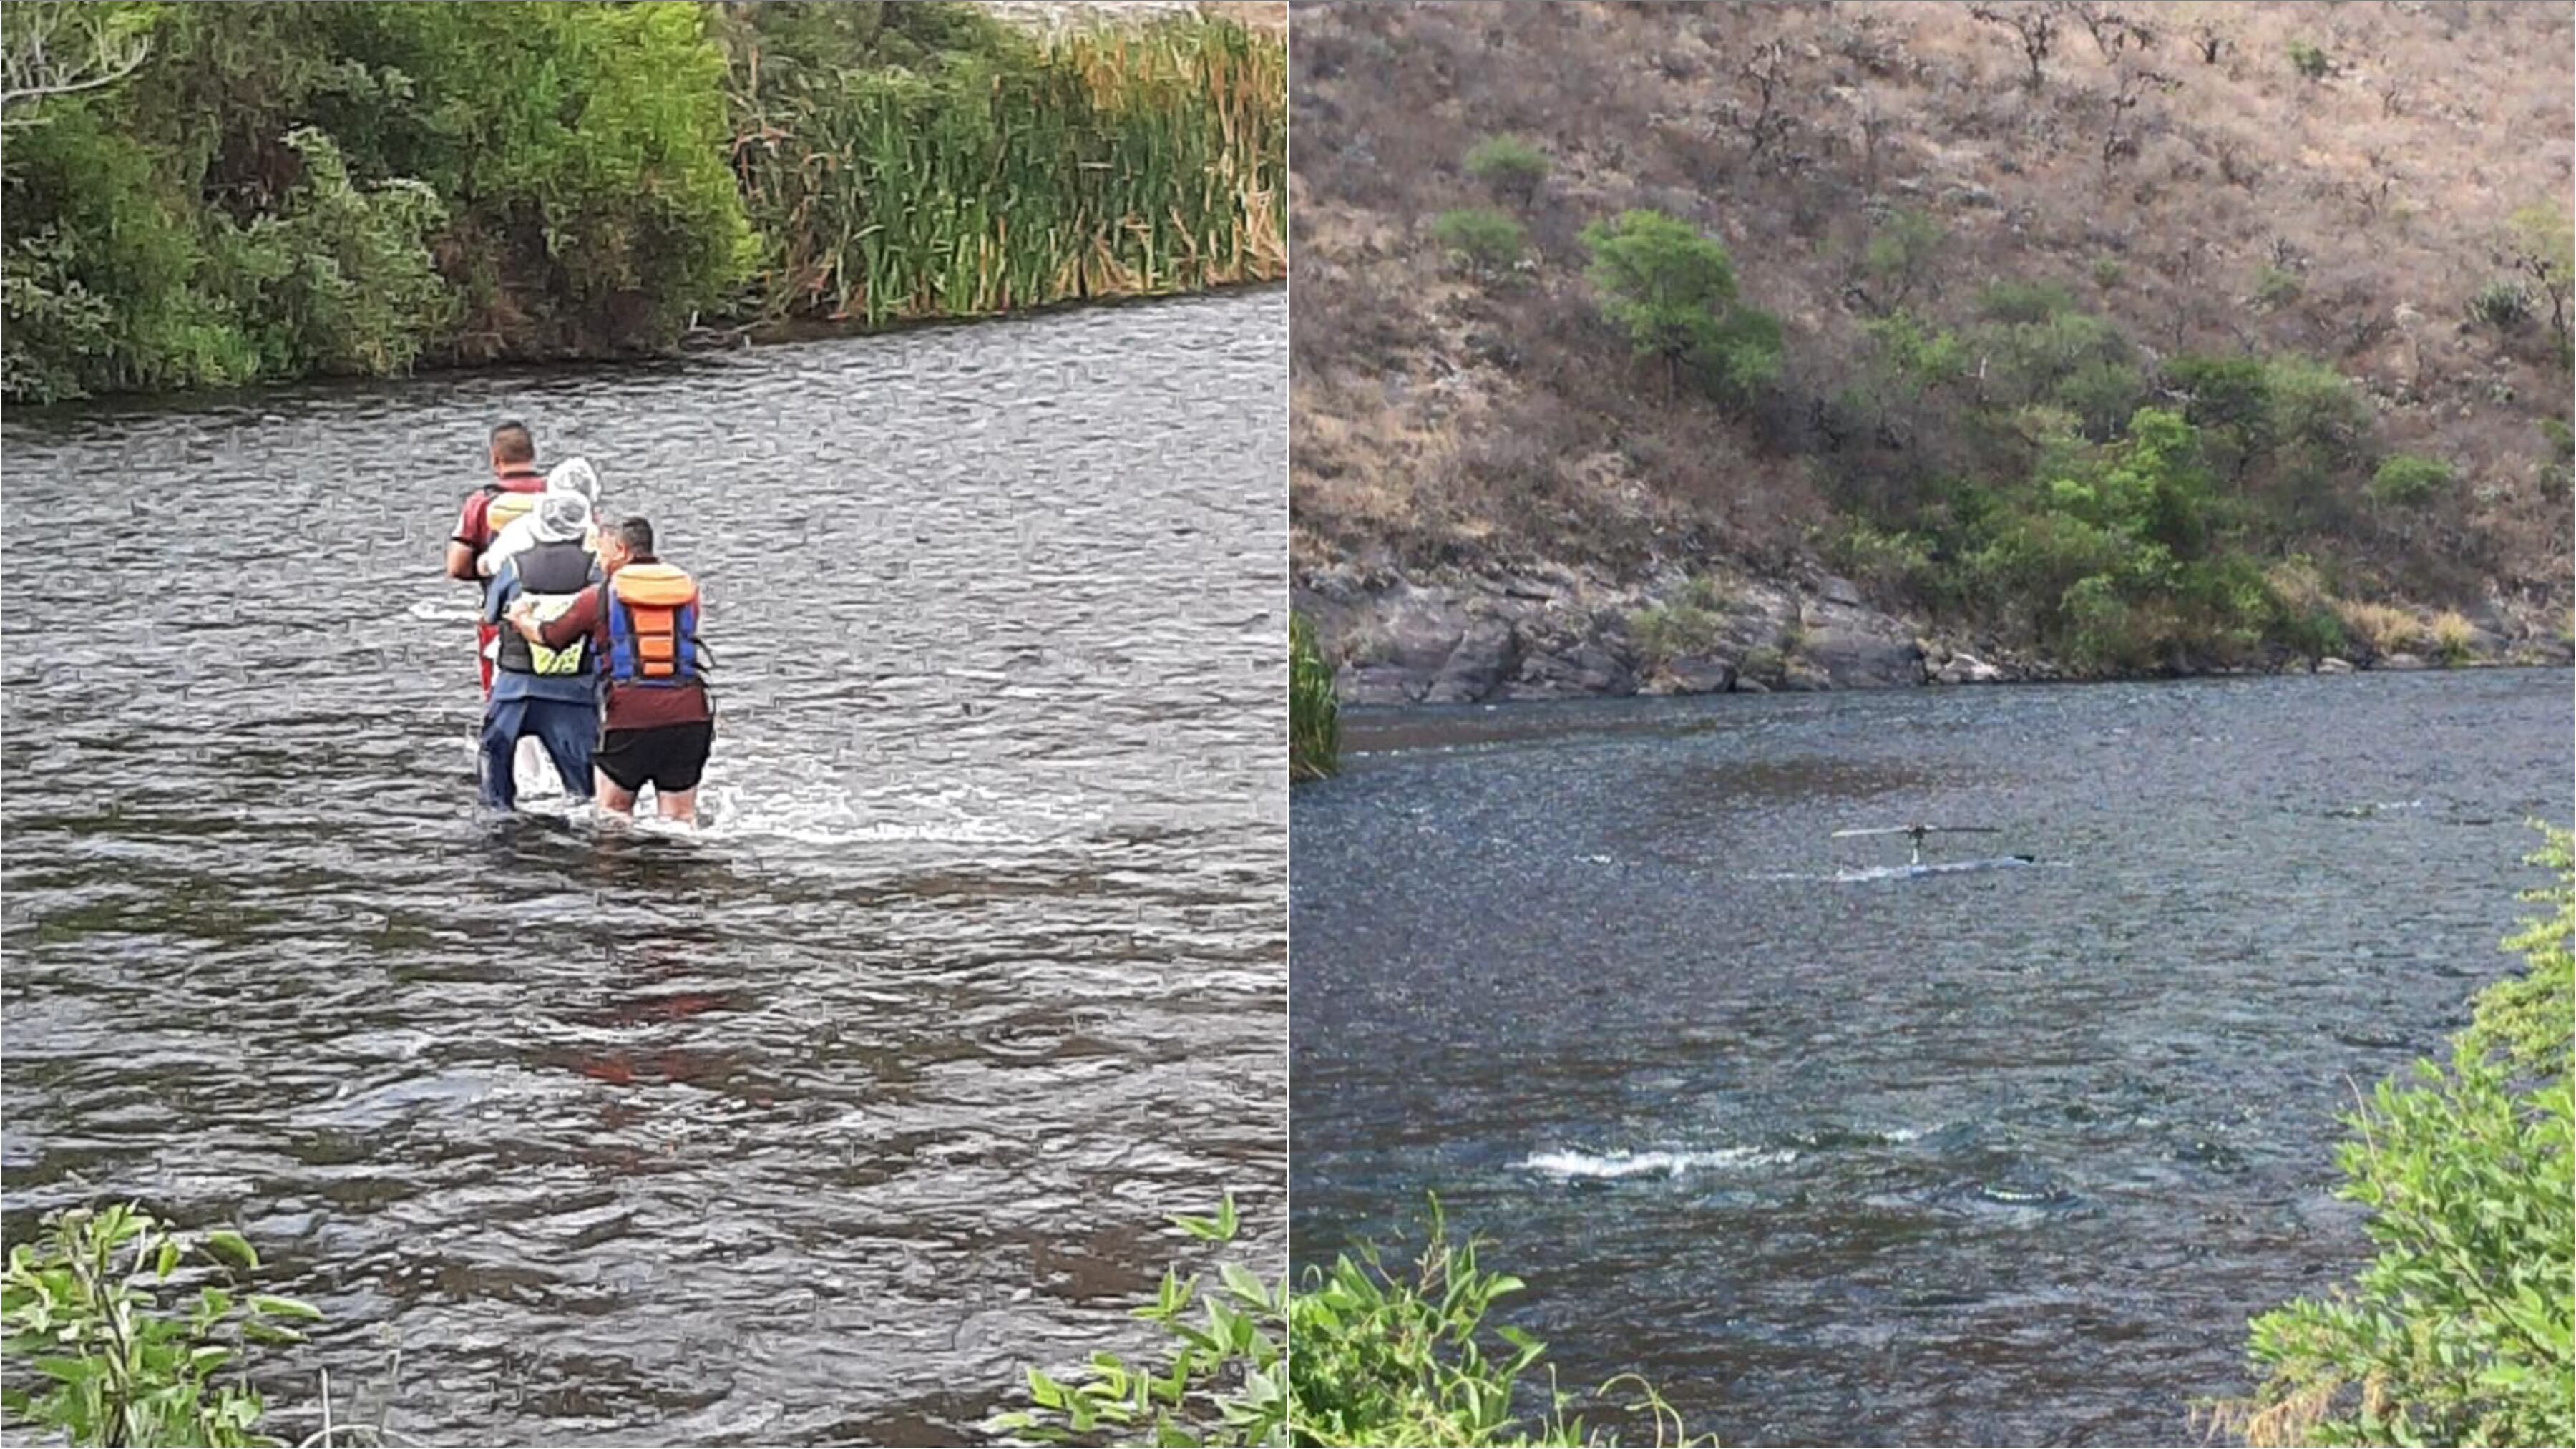
M13 134L10 397L657 345L752 260L696 5L147 15Z

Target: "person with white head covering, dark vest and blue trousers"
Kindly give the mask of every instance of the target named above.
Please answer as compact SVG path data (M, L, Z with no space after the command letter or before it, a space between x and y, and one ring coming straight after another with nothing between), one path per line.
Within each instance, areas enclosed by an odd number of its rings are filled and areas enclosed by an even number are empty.
M556 619L600 580L585 536L590 500L549 492L531 516L531 544L502 559L484 596L484 621L510 614ZM590 639L538 645L515 629L500 632L492 660L492 699L482 724L482 802L518 807L518 743L533 737L554 761L564 794L590 799L590 750L600 727L598 655Z

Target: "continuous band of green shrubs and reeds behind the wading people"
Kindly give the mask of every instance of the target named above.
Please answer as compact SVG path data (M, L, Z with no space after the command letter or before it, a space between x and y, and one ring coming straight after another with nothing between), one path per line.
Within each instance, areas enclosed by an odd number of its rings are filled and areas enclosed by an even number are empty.
M93 36L95 34L95 36ZM103 36L103 39L100 39ZM974 5L10 5L18 402L1285 276L1285 44ZM116 52L113 46L129 46Z

